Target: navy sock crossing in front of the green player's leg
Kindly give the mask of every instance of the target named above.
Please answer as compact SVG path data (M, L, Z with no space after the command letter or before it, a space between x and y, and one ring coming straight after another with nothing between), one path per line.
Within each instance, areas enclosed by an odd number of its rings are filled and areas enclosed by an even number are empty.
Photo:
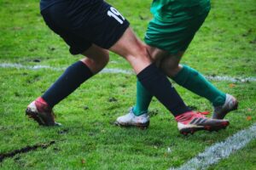
M172 87L171 82L168 81L167 77L156 65L148 65L148 67L137 74L137 78L143 84L144 88L148 89L148 92L159 99L174 116L191 111L184 104L179 94L177 94L175 88Z

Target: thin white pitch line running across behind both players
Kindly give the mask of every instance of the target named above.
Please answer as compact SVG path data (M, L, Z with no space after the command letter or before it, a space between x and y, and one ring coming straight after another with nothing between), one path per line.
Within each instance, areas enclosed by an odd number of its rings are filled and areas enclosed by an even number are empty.
M66 68L58 68L58 67L52 67L49 65L21 65L21 64L12 64L12 63L1 63L0 64L1 68L15 68L15 69L28 69L28 70L40 70L40 69L47 69L51 71L64 71ZM122 74L127 74L131 75L134 74L133 71L129 70L123 70L123 69L103 69L101 73L122 73ZM207 79L212 80L212 81L227 81L227 82L256 82L256 77L212 77L212 76L206 76Z

